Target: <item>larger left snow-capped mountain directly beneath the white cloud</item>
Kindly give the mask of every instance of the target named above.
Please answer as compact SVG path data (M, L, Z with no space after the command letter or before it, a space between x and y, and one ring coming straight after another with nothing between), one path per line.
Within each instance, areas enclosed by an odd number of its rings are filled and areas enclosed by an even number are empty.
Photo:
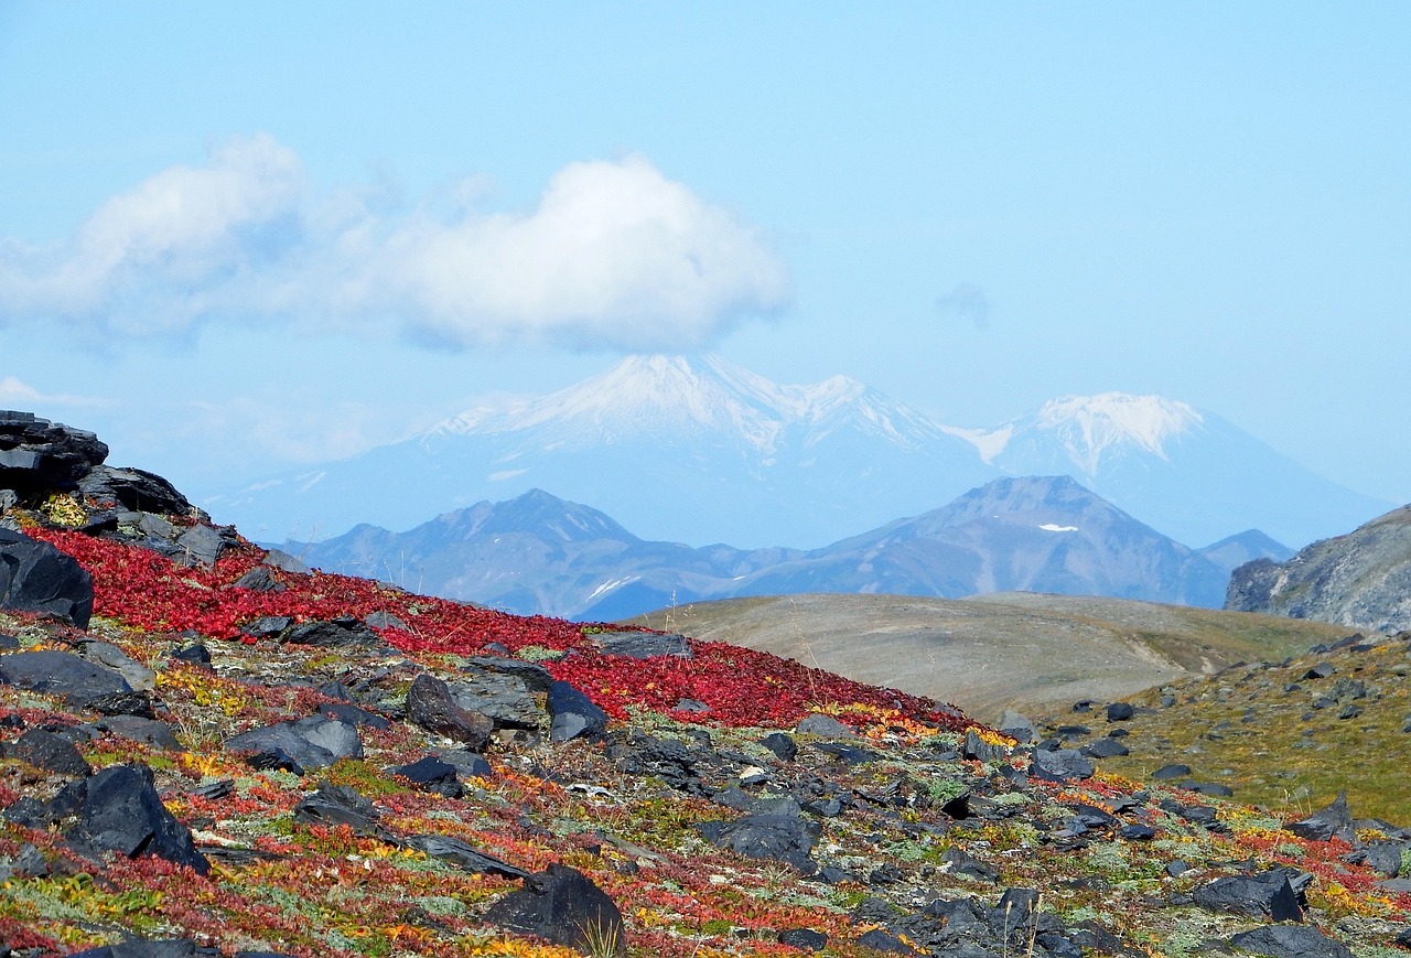
M653 539L816 546L992 475L969 443L854 380L780 385L652 356L203 505L264 539L323 539L538 487Z

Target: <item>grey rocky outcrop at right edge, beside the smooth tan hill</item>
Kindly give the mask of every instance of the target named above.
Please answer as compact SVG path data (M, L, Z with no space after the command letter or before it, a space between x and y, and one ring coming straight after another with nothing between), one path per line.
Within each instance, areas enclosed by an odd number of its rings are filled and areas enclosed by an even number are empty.
M1225 608L1319 619L1369 632L1411 629L1411 507L1276 563L1235 570Z

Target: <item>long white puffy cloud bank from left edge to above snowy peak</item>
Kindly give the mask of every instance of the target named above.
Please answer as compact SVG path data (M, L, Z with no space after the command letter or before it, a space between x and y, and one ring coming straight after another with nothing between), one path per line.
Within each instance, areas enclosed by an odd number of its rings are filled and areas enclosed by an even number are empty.
M780 308L761 231L648 159L574 162L535 209L447 213L316 196L267 135L231 140L99 207L65 243L0 241L0 323L159 333L226 317L385 329L454 347L696 348Z

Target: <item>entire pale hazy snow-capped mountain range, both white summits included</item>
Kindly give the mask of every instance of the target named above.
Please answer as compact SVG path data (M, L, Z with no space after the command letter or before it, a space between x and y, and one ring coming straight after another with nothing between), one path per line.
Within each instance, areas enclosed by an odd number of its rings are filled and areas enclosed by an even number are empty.
M817 547L998 477L1062 474L1187 545L1250 528L1297 545L1390 505L1161 396L1065 396L962 429L845 377L782 385L665 356L202 505L255 538L312 540L542 488L653 539Z

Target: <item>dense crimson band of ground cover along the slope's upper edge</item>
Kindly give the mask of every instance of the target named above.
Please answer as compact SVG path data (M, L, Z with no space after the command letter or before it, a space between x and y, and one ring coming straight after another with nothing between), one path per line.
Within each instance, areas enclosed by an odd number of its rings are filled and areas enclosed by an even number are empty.
M241 626L267 615L296 621L389 612L408 628L380 629L408 653L473 655L491 642L511 650L533 645L571 650L545 663L615 718L631 705L672 713L682 700L710 705L707 720L722 725L786 725L825 704L895 710L947 729L971 722L959 713L906 693L875 689L797 662L720 642L691 642L693 659L662 656L625 660L602 656L583 624L542 615L521 617L442 598L415 595L378 583L330 573L279 573L284 591L257 593L233 583L264 552L241 540L213 569L188 569L150 552L80 532L35 529L93 576L93 611L150 632L193 629L219 639L250 641ZM854 724L865 717L840 714Z

